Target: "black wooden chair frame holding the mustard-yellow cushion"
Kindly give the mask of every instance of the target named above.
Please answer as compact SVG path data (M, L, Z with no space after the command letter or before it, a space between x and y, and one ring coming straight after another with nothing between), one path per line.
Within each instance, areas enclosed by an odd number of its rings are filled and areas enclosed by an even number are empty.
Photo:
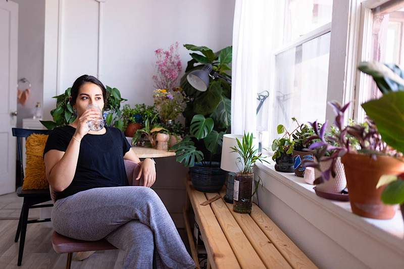
M29 130L22 128L12 128L13 136L17 137L17 146L18 146L18 155L20 158L20 175L22 182L24 182L24 167L22 161L22 145L21 139L26 139L31 134L49 134L49 130ZM28 212L30 208L38 208L38 207L49 207L53 206L51 204L41 204L39 203L51 201L51 193L49 189L45 190L23 190L22 186L17 188L17 196L23 197L24 202L21 208L20 220L18 221L17 233L15 242L18 242L20 238L20 248L18 251L18 263L20 266L22 262L22 255L24 252L24 244L25 244L25 233L27 231L27 224L30 223L41 223L41 222L50 222L51 219L37 219L37 220L29 220L28 221Z

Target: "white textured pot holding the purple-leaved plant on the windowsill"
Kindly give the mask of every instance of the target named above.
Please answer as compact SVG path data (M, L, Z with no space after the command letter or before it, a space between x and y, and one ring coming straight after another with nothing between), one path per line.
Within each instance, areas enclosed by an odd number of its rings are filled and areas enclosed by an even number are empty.
M332 160L326 160L320 162L321 171L325 171L330 168ZM323 183L316 185L316 189L323 192L333 192L333 193L341 193L343 189L346 187L346 177L344 165L341 163L341 158L337 158L335 167L334 167L335 177L330 176L329 180L325 180ZM315 178L320 176L320 171L315 172Z

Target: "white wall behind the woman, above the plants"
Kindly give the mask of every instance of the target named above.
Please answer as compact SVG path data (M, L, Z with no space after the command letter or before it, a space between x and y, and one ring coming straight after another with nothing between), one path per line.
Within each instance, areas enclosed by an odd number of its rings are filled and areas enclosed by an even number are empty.
M55 106L50 97L97 72L128 103L153 103L154 50L178 41L185 69L182 44L231 45L233 14L234 0L46 0L44 116Z

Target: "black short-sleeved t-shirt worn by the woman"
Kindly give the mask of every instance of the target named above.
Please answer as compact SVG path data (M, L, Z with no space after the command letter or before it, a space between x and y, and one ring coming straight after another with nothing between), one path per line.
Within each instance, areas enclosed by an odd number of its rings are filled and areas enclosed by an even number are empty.
M76 172L72 183L56 199L80 191L100 187L126 186L127 177L123 156L130 149L124 134L117 128L106 127L102 135L86 134L80 143ZM55 128L46 141L43 154L51 149L66 151L76 128L66 125Z

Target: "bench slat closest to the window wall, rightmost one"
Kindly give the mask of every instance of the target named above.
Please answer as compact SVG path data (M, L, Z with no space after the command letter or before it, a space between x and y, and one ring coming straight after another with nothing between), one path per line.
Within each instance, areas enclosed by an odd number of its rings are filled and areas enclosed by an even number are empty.
M250 216L294 269L317 268L256 204Z

